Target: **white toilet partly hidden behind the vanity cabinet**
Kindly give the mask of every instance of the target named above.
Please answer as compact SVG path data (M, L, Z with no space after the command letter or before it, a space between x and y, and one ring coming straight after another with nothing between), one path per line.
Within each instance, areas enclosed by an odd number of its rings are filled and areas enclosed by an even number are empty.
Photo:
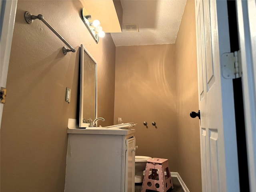
M147 160L151 158L148 156L135 156L135 183L143 182L143 171L146 168Z

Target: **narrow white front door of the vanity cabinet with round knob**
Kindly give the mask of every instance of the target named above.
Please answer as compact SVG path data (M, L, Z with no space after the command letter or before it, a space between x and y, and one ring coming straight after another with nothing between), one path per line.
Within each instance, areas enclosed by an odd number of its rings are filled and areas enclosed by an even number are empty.
M125 192L134 192L135 183L135 137L126 139Z

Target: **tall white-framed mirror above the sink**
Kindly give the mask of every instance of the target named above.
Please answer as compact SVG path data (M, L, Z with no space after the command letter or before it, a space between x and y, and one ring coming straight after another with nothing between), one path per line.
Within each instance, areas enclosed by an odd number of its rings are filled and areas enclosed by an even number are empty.
M79 128L89 127L89 118L97 117L97 62L88 50L80 47Z

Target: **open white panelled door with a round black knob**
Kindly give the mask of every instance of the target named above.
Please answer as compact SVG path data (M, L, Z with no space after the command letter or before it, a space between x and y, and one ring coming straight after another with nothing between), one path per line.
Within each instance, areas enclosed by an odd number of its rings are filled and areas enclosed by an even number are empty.
M196 0L202 190L240 191L232 79L221 74L230 52L226 0Z

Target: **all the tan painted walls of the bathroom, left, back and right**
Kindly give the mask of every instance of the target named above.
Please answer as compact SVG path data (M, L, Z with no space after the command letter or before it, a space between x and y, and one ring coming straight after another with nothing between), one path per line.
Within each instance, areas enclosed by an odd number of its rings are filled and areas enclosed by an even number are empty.
M81 8L79 1L18 1L1 125L1 191L64 191L67 123L78 117L80 44L98 62L98 116L106 119L99 123L118 116L137 122L136 155L168 158L190 192L201 191L199 122L189 117L198 110L194 1L175 45L115 48L110 34L96 44ZM63 42L45 24L26 23L26 10L42 14L76 53L64 56Z

